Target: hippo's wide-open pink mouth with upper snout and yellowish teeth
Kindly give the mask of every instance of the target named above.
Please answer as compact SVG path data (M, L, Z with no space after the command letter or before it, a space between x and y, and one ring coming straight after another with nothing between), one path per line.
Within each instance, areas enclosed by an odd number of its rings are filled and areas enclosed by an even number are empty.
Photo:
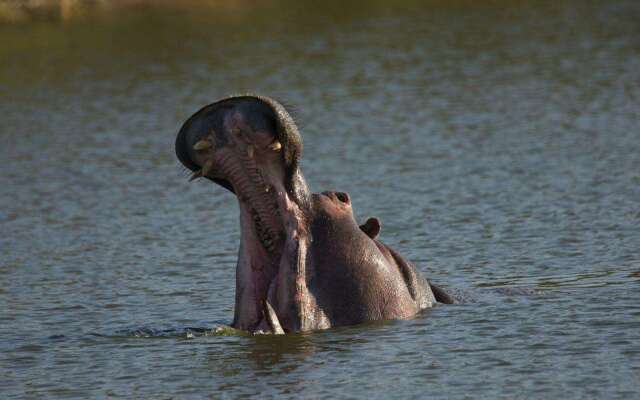
M268 322L270 289L279 265L293 256L285 255L285 244L295 237L301 218L294 184L297 131L280 126L277 106L249 96L215 103L187 121L176 139L176 153L193 171L191 179L210 179L238 198L237 275L243 286L236 295L253 307L236 310L234 325L248 330Z

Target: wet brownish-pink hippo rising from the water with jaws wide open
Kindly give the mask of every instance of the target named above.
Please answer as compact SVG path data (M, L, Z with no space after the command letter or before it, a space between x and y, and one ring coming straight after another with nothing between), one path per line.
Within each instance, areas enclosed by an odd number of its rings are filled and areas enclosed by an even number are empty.
M180 162L233 193L240 207L232 327L292 333L407 319L452 303L378 240L380 221L358 225L347 193L311 193L302 139L278 101L223 98L193 114L175 143Z

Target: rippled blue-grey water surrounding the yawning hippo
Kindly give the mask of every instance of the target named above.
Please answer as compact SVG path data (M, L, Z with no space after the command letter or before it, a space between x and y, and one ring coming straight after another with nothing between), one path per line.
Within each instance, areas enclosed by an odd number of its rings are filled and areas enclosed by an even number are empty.
M0 25L2 397L638 397L640 6L478 3ZM467 301L216 332L238 209L173 140L246 91L295 106L313 190Z

